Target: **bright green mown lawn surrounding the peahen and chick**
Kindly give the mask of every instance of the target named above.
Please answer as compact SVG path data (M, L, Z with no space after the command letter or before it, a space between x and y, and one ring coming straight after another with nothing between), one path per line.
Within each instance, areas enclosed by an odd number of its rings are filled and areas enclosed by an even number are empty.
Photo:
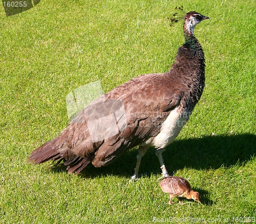
M164 159L168 170L189 179L203 204L167 205L153 149L140 167L150 177L130 184L136 149L78 176L50 162L28 164L36 147L67 126L70 91L99 80L107 92L140 74L170 68L184 40L182 23L170 28L167 18L181 5L210 17L195 30L206 57L206 86ZM0 222L151 223L153 217L176 217L186 219L175 223L192 223L190 217L193 223L238 223L236 217L255 217L254 5L41 1L10 17L2 8Z

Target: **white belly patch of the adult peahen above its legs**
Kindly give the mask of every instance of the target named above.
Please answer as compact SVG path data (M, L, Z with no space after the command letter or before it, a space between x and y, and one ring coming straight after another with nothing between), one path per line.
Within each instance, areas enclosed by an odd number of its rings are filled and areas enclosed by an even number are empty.
M186 124L189 117L182 117L182 114L178 113L177 110L178 107L169 113L166 120L162 123L160 133L152 141L156 148L164 148L172 143Z

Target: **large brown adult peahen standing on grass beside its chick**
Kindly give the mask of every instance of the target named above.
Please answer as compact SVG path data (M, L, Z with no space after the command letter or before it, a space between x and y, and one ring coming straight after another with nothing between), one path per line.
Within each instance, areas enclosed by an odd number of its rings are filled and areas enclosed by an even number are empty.
M195 26L204 19L208 17L195 11L185 15L185 43L178 48L176 62L169 71L144 74L105 93L78 113L58 137L38 147L28 159L35 164L63 161L68 172L79 173L89 163L95 167L108 165L139 145L132 176L132 180L136 180L141 158L149 146L154 146L162 176L167 177L162 152L178 136L204 88L204 53L194 35ZM105 114L115 114L121 107L124 110L114 116L117 123L113 124L108 120L113 116ZM89 118L99 122L100 114L105 117L105 126L89 124ZM124 121L121 126L117 126L117 119ZM110 134L116 128L118 131Z

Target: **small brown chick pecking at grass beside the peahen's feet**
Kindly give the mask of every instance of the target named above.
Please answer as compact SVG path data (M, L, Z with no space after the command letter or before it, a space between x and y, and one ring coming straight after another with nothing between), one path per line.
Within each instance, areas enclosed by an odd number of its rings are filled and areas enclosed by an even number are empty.
M159 183L159 186L164 193L170 195L169 205L172 204L172 198L174 197L178 197L179 202L179 197L186 197L201 203L200 194L192 190L188 181L182 177L166 177Z

